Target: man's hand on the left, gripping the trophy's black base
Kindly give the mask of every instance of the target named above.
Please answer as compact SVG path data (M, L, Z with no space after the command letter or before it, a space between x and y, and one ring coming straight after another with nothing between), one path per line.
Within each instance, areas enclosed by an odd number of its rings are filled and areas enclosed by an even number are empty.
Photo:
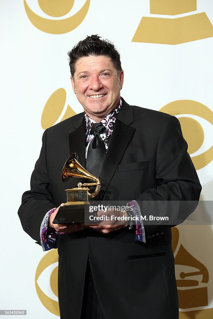
M48 230L52 228L57 232L61 232L62 234L71 234L85 229L84 224L53 224L52 222L61 206L64 206L64 203L57 207L57 209L49 216Z

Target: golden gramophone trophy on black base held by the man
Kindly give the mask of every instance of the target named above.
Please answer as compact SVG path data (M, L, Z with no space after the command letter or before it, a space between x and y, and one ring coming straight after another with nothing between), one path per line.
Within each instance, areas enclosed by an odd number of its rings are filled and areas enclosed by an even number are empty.
M85 206L89 205L88 197L95 197L101 188L98 177L90 174L78 161L78 154L72 153L67 159L61 174L63 182L71 177L80 177L93 180L93 183L78 183L77 188L65 189L67 202L61 206L56 214L53 224L70 224L85 222ZM89 192L88 186L96 186L93 193Z

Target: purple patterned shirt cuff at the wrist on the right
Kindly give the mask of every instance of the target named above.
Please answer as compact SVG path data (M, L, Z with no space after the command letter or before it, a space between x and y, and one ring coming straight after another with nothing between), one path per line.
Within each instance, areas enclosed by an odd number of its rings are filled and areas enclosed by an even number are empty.
M138 241L146 242L146 237L145 237L145 229L143 225L143 219L141 218L141 209L139 204L133 200L129 203L127 203L127 206L132 207L132 212L134 214L135 220L136 220L136 234L135 238Z

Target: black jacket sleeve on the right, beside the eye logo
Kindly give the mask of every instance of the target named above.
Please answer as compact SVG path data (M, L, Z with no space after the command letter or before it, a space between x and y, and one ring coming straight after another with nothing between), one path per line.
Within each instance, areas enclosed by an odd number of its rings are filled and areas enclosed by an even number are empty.
M144 221L146 235L182 223L198 204L202 188L187 147L178 119L169 116L156 150L158 186L147 189L137 198L141 214L148 219ZM150 222L149 216L168 216L169 221Z

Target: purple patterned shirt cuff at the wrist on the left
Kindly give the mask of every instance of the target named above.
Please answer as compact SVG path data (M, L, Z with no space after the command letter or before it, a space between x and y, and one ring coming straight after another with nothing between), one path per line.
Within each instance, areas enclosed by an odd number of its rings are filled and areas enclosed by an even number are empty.
M44 219L42 220L41 228L40 228L40 241L43 251L50 250L54 248L55 242L57 240L57 235L62 235L62 233L47 230L49 223L49 216L56 210L56 208L52 208L50 211L46 213Z

